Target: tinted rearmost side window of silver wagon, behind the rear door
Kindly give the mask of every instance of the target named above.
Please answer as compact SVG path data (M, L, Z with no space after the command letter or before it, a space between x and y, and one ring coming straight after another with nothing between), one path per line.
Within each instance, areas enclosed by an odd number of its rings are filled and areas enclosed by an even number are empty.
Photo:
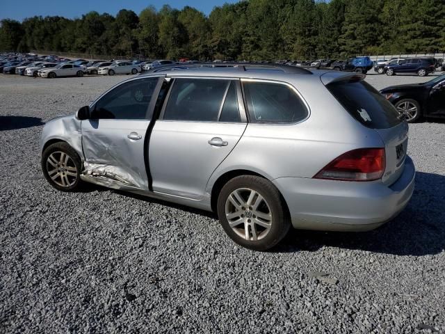
M243 87L250 122L294 123L309 115L300 97L287 85L245 81Z

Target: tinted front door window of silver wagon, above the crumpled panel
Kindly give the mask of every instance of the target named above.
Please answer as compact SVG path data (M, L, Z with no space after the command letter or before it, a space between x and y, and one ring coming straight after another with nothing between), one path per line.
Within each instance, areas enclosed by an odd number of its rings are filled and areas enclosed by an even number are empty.
M144 120L150 119L148 106L158 77L129 81L106 93L95 104L92 119Z

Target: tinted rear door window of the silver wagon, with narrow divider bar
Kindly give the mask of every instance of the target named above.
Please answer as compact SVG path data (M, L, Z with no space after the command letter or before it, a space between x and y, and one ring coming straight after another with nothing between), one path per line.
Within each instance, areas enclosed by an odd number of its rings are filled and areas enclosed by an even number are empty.
M236 98L232 80L175 79L163 119L239 122Z

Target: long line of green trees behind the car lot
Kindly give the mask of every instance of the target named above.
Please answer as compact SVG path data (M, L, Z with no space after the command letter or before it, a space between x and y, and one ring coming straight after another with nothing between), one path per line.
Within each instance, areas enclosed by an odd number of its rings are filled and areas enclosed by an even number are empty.
M0 50L273 60L445 51L444 0L244 0L1 20Z

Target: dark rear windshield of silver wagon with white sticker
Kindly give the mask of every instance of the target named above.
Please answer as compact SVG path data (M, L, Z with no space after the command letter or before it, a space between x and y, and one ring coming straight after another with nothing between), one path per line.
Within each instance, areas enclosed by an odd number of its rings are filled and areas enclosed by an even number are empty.
M326 85L353 118L371 129L387 129L401 123L396 108L364 81L337 81Z

